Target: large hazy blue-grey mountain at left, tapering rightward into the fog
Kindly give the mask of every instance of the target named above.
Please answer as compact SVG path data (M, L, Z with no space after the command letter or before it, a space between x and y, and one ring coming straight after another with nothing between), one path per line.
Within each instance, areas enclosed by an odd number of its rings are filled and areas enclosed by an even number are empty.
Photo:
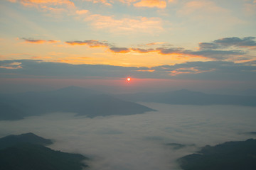
M8 100L5 100L8 98ZM81 87L70 86L56 91L26 92L0 96L0 120L16 120L29 115L53 112L70 112L90 118L106 115L132 115L154 111L138 103L102 94ZM11 107L12 106L12 107Z

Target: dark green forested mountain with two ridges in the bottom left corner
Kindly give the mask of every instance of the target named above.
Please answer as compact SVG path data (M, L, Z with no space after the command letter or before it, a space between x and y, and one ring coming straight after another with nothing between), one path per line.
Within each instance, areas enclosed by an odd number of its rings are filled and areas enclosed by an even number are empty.
M38 137L33 133L1 138L0 169L82 170L87 167L82 163L87 159L86 157L81 154L55 151L43 146L50 143L50 140Z

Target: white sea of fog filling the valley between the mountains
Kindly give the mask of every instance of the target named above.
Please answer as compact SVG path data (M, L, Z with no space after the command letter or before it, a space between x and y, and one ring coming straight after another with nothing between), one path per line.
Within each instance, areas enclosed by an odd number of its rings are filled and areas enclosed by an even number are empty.
M156 112L86 118L51 113L0 121L0 137L33 132L49 147L91 158L92 170L177 170L176 159L204 145L255 138L256 109L142 103ZM169 143L188 145L173 149Z

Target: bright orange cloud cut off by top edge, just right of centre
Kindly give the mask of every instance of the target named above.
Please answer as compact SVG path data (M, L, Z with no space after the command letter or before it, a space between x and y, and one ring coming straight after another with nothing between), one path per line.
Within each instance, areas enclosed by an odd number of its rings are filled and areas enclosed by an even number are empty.
M136 7L148 7L148 8L166 8L166 1L164 0L142 0L134 4Z

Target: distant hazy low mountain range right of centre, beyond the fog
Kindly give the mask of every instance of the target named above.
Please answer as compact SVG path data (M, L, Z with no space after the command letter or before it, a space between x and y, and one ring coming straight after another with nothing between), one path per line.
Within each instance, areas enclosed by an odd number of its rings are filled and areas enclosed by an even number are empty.
M163 93L120 94L116 97L127 101L143 101L181 105L240 105L256 106L256 96L233 96L220 94L204 94L182 89Z

